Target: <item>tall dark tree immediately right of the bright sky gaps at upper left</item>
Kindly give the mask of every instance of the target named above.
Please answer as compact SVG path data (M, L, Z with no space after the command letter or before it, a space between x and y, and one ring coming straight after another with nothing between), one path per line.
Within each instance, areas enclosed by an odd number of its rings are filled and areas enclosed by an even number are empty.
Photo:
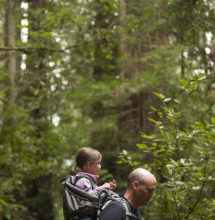
M23 104L25 108L30 110L28 118L34 127L33 138L38 140L34 143L38 155L38 158L35 158L35 160L38 160L38 162L48 161L48 157L51 156L51 151L48 146L45 146L45 139L43 137L43 135L48 134L51 129L50 122L48 121L48 116L51 112L46 108L46 105L49 104L47 98L50 92L50 82L47 78L47 53L45 50L38 48L39 45L40 48L49 47L48 39L42 34L48 31L43 28L43 22L46 20L45 6L45 0L28 1L28 45L31 47L36 45L37 51L27 54L26 71L24 75L26 79L29 79L29 82L25 81L28 83L28 86L25 84L23 87L25 89L22 91L23 97L29 102L26 103L25 101ZM43 140L41 144L39 140ZM35 216L36 219L54 219L50 188L51 172L46 171L44 174L41 173L33 178L27 177L24 181L25 184L28 185L24 204L28 207L29 213L32 213L32 217ZM44 207L46 208L44 209Z

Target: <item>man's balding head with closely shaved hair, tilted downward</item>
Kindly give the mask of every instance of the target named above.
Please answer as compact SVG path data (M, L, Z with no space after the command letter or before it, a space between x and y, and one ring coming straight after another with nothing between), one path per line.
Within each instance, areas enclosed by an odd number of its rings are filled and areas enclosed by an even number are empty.
M128 176L128 187L125 197L137 208L146 205L156 186L156 179L153 174L143 168L133 170Z

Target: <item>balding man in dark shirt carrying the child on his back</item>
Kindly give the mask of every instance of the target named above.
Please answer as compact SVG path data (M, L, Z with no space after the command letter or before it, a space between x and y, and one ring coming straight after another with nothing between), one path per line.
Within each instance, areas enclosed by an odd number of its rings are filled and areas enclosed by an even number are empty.
M136 216L129 219L141 219L138 207L146 205L156 186L156 179L149 171L138 168L128 176L128 185L124 199L130 206L131 213ZM126 220L126 210L118 201L111 201L101 212L99 220Z

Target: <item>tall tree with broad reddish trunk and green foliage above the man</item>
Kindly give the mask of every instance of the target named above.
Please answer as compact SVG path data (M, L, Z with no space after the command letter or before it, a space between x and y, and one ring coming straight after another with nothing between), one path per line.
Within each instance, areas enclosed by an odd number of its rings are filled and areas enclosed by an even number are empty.
M119 105L118 122L119 139L127 149L134 150L134 140L139 139L141 131L153 131L148 120L150 106L156 102L151 82L160 74L157 84L161 84L166 73L151 70L148 57L153 50L167 43L168 35L155 23L161 19L159 13L162 13L164 5L158 2L155 7L148 1L119 1L119 72L122 83L127 86Z

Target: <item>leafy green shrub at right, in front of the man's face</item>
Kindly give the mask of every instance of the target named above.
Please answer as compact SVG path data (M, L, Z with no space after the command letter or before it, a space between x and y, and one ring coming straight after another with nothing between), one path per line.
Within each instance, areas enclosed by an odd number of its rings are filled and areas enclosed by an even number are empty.
M162 94L155 94L162 101L161 108L153 108L158 119L150 119L156 133L142 134L143 142L137 145L143 155L152 158L152 162L145 167L152 169L158 179L155 197L144 209L145 218L213 219L213 118L212 123L196 121L183 126L183 114L175 110L178 106L167 106L167 98ZM127 152L123 154L121 161L134 166L135 163L130 160L134 160L136 154L133 153L130 157Z

